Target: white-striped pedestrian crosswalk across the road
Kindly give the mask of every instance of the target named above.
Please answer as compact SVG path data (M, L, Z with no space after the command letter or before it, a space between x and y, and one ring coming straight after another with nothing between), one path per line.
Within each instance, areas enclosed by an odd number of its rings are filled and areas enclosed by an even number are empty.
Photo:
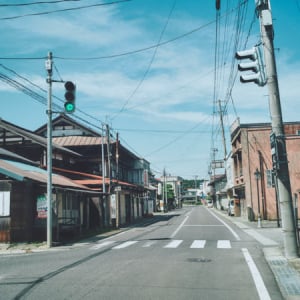
M217 249L231 249L231 242L230 240L217 240L217 241L210 241L210 244L215 245ZM150 248L154 247L155 245L160 245L164 249L176 249L179 247L182 247L185 245L185 247L188 247L190 249L204 249L207 247L207 241L206 240L194 240L192 242L184 242L184 240L169 240L168 242L159 241L159 240L148 240L148 241L125 241L125 242L117 242L117 241L102 241L99 242L92 247L90 247L90 250L99 250L104 247L111 247L112 250L119 250L124 249L128 247L132 247L133 245L136 245L141 248Z

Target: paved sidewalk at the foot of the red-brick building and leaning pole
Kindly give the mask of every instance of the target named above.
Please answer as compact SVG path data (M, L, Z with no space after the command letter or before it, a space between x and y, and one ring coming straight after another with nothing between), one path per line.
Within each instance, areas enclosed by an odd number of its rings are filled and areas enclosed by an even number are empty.
M250 222L243 217L229 217L227 212L214 209L214 212L226 217L244 232L263 245L263 252L276 278L284 299L300 299L300 258L287 259L284 256L283 233L277 227L277 222L262 221L262 227L257 222Z

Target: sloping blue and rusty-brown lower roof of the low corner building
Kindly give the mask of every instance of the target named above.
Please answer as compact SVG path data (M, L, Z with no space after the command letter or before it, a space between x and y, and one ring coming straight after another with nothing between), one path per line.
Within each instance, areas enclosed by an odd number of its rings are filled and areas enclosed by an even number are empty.
M41 183L47 183L48 179L48 173L46 170L21 162L4 159L0 159L0 173L18 181L30 179ZM87 187L80 185L67 177L57 174L52 174L52 184L56 186L88 190Z

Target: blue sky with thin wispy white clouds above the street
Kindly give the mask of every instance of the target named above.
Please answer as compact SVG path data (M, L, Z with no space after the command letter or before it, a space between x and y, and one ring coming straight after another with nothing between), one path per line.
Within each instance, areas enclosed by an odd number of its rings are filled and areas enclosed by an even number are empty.
M220 3L0 0L0 118L29 130L47 122L52 52L55 111L59 81L72 81L72 118L109 124L156 177L208 178L237 118L271 122L267 86L240 83L234 58L260 43L255 0ZM300 121L300 0L271 0L271 9L283 121Z

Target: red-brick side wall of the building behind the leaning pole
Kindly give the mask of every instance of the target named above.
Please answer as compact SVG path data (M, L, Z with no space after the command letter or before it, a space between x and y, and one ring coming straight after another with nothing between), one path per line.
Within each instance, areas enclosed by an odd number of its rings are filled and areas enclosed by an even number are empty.
M300 129L300 124L296 127L289 126L286 130L292 195L297 194L300 189L300 136L295 135L297 129ZM242 128L240 134L242 176L238 178L238 183L245 189L245 198L241 199L241 214L248 216L249 208L252 208L255 219L258 215L258 203L262 219L275 220L278 216L276 190L275 187L268 187L266 174L267 170L272 169L270 133L270 127L257 127ZM258 181L254 175L256 169L261 174Z

